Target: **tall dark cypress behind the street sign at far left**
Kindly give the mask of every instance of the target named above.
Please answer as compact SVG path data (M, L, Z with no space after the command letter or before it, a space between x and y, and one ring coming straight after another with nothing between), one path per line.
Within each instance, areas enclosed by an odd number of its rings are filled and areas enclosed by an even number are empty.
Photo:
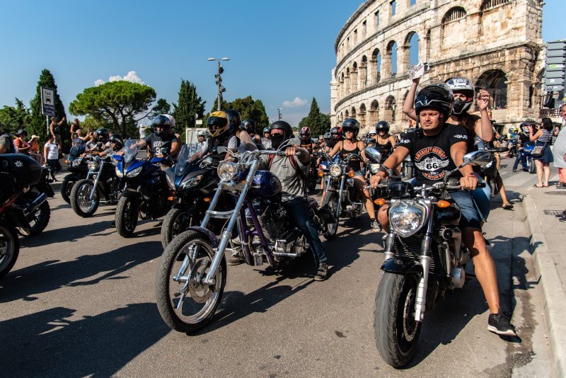
M47 121L45 115L41 113L41 87L45 86L47 88L52 88L54 90L54 105L55 105L55 115L57 118L67 118L65 114L65 108L59 98L59 93L57 92L57 84L55 84L55 79L49 69L43 69L40 74L40 79L37 81L37 88L35 91L35 97L30 101L31 118L30 125L28 126L29 134L36 134L40 137L42 142L47 141ZM67 122L63 122L61 127L61 139L63 142L63 151L67 153L71 148L71 134L69 132L69 125Z

